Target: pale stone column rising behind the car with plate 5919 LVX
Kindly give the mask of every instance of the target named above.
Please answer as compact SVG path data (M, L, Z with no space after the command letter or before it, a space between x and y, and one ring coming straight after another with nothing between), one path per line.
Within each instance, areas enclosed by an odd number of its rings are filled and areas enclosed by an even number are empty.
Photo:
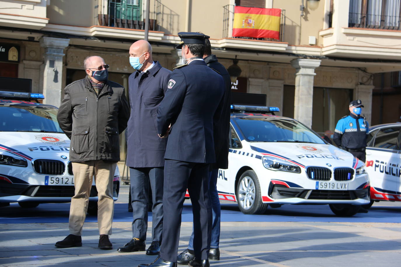
M321 60L297 58L291 60L296 69L294 118L312 127L313 78Z

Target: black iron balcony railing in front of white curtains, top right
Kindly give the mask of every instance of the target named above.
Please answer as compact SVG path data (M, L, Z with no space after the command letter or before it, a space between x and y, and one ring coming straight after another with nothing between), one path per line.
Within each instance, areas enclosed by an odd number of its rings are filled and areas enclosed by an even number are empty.
M348 27L400 30L400 16L349 13Z

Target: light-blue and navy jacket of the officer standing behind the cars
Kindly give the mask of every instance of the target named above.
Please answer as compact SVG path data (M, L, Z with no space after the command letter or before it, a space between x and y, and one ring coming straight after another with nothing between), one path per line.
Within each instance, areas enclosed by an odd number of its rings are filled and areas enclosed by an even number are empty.
M347 149L365 148L368 127L368 122L363 116L350 113L338 120L333 141L338 147Z

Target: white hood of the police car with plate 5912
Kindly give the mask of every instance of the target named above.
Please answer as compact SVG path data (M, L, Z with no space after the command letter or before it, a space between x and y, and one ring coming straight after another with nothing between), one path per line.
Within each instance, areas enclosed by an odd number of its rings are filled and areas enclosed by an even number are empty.
M63 133L0 132L0 137L1 151L26 159L69 155L70 140Z

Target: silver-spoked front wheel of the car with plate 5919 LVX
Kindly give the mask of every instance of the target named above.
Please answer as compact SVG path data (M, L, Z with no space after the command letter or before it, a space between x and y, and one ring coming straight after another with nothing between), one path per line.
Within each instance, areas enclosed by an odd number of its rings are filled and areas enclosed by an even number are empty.
M259 180L252 170L245 171L237 186L238 207L244 214L263 214L268 204L262 202Z

